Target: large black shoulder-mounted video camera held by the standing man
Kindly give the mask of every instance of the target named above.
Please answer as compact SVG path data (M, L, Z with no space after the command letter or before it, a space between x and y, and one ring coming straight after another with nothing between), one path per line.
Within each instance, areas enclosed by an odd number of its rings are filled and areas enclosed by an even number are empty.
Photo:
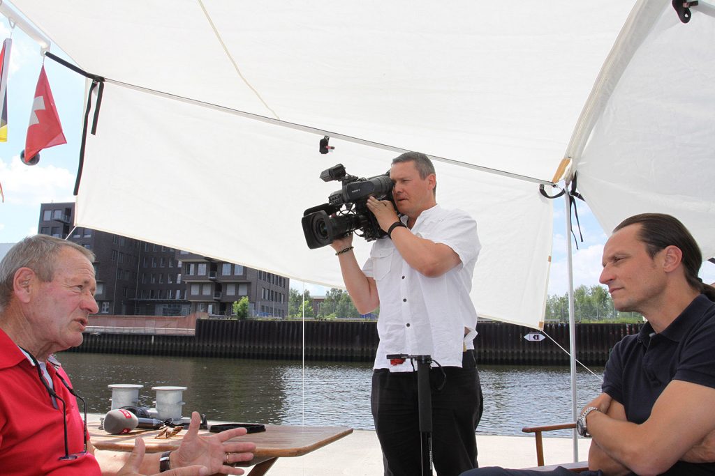
M305 242L314 250L330 245L337 238L359 230L368 241L387 235L378 224L378 219L368 210L368 198L393 202L393 181L389 173L358 178L347 175L342 163L320 173L324 182L341 181L342 188L330 194L328 203L308 208L301 220Z

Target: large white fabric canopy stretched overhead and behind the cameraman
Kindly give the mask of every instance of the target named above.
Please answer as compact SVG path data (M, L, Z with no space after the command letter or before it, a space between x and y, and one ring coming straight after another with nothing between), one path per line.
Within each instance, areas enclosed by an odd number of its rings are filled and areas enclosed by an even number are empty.
M478 313L534 328L552 235L538 183L561 179L564 157L606 229L671 212L714 254L715 29L700 3L681 24L667 0L630 18L623 0L14 1L107 79L78 226L340 286L332 250L309 250L300 226L340 188L320 171L375 176L422 151L438 202L478 221Z

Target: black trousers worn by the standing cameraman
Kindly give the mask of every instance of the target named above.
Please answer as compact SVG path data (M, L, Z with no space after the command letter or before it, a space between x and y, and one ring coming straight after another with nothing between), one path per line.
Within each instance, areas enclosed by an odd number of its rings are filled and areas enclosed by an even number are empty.
M475 430L483 403L473 350L463 354L462 365L443 368L444 375L439 368L430 370L433 462L438 476L458 476L478 467ZM422 474L417 396L417 372L373 373L371 407L385 476Z

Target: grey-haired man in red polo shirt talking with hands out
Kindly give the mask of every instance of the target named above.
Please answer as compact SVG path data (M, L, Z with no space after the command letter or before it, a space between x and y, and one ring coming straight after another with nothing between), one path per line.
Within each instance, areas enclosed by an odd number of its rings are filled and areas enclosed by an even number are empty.
M245 430L199 437L199 415L170 454L92 447L69 377L53 354L82 343L97 313L94 255L50 236L16 244L0 262L0 473L3 475L242 475L255 445L227 442Z

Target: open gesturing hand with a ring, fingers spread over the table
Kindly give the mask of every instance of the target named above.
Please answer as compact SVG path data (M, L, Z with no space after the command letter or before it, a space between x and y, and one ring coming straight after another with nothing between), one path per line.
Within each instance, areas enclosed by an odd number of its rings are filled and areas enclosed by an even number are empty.
M192 412L191 424L182 439L179 449L172 452L172 467L202 465L208 474L242 475L243 470L229 466L235 462L250 461L256 445L250 442L230 442L231 438L246 434L245 428L235 428L211 436L199 436L201 419L198 412ZM166 474L166 473L164 473Z

